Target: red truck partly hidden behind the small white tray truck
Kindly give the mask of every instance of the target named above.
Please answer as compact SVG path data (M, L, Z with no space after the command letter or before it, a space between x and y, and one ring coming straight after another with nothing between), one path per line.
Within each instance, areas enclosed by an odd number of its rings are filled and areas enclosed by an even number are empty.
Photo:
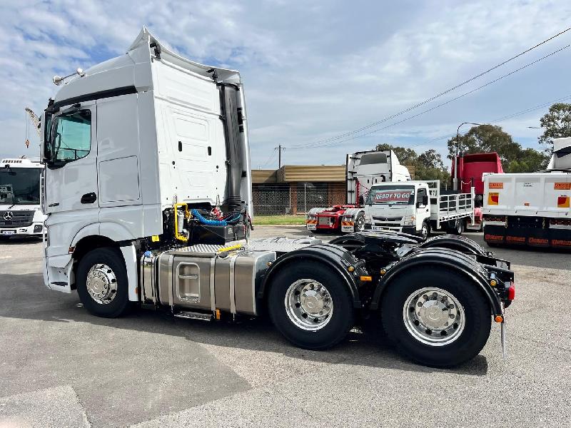
M455 162L458 158L458 163ZM503 173L502 161L500 156L495 152L490 153L473 153L470 155L460 155L452 160L451 177L453 180L453 190L459 190L460 193L470 193L470 188L474 187L474 225L465 224L468 230L482 230L482 206L484 205L484 183L482 181L483 173ZM458 164L458 170L455 167ZM456 174L455 174L456 172ZM455 188L455 178L457 179L457 188Z

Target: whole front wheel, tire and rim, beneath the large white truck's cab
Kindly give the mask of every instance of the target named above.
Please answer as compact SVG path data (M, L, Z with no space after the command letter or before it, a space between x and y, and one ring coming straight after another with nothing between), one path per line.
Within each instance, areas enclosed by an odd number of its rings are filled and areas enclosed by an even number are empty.
M128 280L123 256L116 248L97 248L77 267L77 292L86 310L113 318L128 310Z

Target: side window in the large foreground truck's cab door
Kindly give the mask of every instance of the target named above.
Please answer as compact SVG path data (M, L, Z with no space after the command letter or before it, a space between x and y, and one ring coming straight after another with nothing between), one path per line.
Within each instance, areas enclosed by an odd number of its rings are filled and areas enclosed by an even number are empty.
M51 138L51 159L73 162L85 158L91 149L91 111L81 110L55 118Z

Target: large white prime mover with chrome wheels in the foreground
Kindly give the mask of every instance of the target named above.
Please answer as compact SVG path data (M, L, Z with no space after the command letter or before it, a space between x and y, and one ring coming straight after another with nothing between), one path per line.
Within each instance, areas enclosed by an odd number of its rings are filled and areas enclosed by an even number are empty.
M43 116L44 281L76 290L94 315L268 313L295 345L320 350L380 314L401 352L433 366L469 360L491 322L504 325L510 265L470 240L248 238L241 76L188 61L146 29L126 54L79 71Z

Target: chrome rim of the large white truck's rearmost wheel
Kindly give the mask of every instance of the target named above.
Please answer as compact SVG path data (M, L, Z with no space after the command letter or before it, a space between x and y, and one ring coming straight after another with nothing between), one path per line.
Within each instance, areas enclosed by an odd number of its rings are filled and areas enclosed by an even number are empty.
M438 287L416 290L403 306L406 329L425 345L450 345L462 335L465 320L464 308L458 299Z

